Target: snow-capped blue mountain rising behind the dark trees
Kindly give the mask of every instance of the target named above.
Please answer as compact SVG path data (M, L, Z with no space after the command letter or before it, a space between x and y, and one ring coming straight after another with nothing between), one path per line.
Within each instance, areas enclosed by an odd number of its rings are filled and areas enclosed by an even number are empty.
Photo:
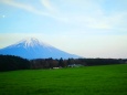
M0 54L3 55L17 55L23 59L78 59L78 55L66 53L52 45L40 42L38 39L29 38L24 39L15 44L9 45L0 50Z

